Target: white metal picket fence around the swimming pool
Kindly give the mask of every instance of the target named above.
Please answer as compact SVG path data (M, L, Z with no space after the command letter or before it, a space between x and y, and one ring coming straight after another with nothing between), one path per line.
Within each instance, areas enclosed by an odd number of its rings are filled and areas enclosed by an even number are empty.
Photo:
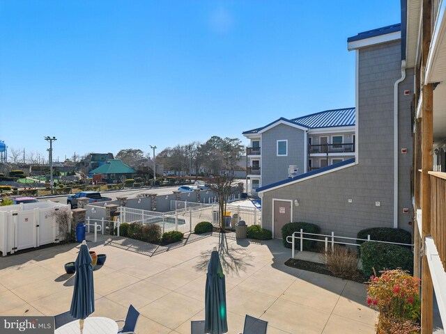
M220 224L218 205L205 205L194 202L171 201L171 207L176 207L169 212L154 212L130 207L119 207L120 223L141 223L144 225L158 224L162 232L180 231L183 233L194 232L195 226L201 221L209 221L213 225ZM226 227L235 228L240 220L249 225L259 225L261 211L255 207L241 207L238 205L226 205Z

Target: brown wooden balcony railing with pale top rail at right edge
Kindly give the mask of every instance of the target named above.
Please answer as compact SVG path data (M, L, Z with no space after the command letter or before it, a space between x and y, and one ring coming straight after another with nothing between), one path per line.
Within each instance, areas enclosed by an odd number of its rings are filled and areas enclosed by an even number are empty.
M431 175L431 234L443 268L446 269L446 173Z

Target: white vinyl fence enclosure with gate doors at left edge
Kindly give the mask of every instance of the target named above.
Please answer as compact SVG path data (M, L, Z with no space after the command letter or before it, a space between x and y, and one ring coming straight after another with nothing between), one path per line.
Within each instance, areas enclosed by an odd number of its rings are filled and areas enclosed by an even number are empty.
M0 250L3 256L17 250L36 248L59 242L53 212L70 210L70 205L54 202L38 202L22 205L8 205L0 208Z

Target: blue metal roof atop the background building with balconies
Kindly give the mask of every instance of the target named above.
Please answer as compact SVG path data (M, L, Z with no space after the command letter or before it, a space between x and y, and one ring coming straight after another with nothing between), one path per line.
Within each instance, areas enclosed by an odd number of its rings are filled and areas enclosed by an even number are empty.
M321 111L319 113L312 113L311 115L301 116L288 120L286 118L279 118L264 127L245 131L242 134L257 134L261 130L273 125L276 122L289 122L300 127L307 127L308 129L317 129L321 127L348 127L355 125L355 108L332 109Z

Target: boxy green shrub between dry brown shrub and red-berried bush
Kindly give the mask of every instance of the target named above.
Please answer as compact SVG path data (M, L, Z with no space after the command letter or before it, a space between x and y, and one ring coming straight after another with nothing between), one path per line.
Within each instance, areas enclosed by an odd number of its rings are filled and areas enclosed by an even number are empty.
M371 276L374 269L408 270L413 272L413 253L410 249L392 244L368 241L361 244L362 271Z

